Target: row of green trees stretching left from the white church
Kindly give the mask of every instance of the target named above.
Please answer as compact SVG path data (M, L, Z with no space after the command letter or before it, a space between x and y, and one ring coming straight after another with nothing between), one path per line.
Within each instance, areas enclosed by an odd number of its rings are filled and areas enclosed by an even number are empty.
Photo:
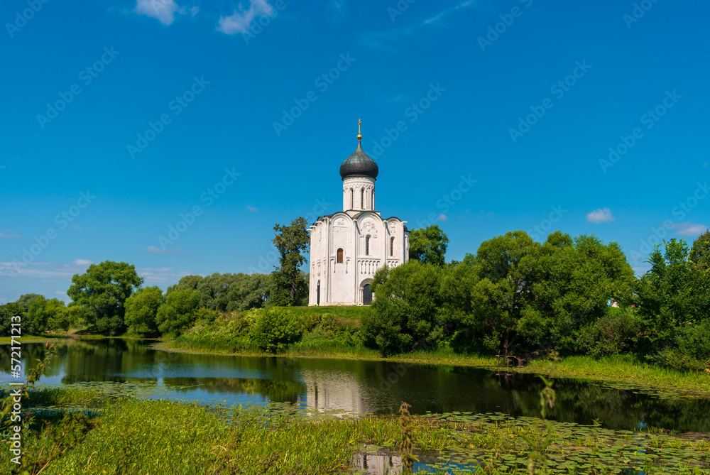
M42 295L22 295L0 305L0 336L9 336L10 317L21 315L23 332L43 332L80 324L100 334L177 337L197 320L214 320L219 312L241 312L265 305L307 305L307 275L300 271L310 242L305 218L274 226L273 244L280 266L271 274L186 275L163 293L143 287L135 266L104 261L72 277L70 305Z

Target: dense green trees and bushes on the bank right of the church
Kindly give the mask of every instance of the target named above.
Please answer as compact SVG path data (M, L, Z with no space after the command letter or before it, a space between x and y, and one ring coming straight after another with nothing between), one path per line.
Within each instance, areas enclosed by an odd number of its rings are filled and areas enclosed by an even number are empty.
M682 239L657 246L640 278L621 246L595 236L556 231L540 244L513 231L451 263L438 257L442 243L445 252L443 240L425 244L433 260L374 276L363 324L383 355L632 353L671 368L710 368L709 231L692 247Z

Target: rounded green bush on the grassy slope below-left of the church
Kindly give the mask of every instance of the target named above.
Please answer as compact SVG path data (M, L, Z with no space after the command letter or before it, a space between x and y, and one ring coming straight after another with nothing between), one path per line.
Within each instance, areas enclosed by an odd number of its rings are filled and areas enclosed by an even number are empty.
M251 338L262 351L282 352L301 339L303 325L288 310L268 307L252 312L256 316L256 324Z

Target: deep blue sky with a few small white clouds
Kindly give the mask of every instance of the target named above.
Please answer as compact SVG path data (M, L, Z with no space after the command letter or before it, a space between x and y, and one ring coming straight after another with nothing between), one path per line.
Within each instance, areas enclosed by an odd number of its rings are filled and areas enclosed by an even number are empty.
M0 6L0 302L273 270L275 223L377 207L482 241L710 224L706 2L10 0ZM171 228L172 226L172 228Z

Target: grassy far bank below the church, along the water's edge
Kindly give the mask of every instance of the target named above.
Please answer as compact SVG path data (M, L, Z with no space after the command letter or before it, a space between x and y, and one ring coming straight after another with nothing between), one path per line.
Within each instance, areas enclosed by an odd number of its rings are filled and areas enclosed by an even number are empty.
M359 330L366 307L289 307L294 317L304 322L302 338L280 356L290 358L332 358L392 361L412 364L474 366L521 373L540 373L560 378L581 378L616 388L657 391L667 395L710 397L710 373L682 372L648 364L633 356L569 356L555 365L547 359L530 361L527 366L508 366L496 356L457 354L450 349L415 351L382 358L365 346ZM222 315L214 322L197 322L174 341L158 348L243 356L271 356L260 351L249 339L249 317Z

